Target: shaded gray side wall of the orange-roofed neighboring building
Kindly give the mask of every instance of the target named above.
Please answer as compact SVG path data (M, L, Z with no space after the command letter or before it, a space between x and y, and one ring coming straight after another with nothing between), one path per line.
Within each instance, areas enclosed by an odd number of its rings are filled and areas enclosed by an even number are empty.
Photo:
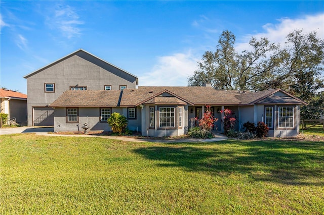
M15 117L19 125L27 125L27 100L9 100L10 118Z

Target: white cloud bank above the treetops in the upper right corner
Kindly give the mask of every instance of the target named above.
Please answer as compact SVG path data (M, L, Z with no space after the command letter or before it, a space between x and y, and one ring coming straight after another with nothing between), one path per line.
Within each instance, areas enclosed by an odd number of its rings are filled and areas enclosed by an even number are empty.
M266 37L270 42L284 44L286 41L286 36L290 32L297 29L303 29L304 34L317 31L317 36L324 39L324 14L313 16L309 15L299 19L283 18L278 21L278 24L265 24L263 26L265 32L263 33L246 35L244 38L242 38L244 42L236 44L236 50L242 51L244 49L248 49L249 40L251 37Z

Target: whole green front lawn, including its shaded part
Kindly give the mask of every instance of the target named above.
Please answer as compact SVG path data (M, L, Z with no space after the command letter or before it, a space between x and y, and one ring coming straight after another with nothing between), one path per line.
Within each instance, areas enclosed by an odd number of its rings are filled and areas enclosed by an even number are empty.
M324 142L1 136L1 214L324 214Z

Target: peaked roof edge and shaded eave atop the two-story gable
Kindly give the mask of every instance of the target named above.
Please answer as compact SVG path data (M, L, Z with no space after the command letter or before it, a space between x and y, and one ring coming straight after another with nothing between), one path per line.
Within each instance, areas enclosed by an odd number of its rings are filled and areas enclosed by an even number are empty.
M130 79L132 77L133 80L134 79L136 80L136 84L138 85L138 77L137 76L127 72L126 70L123 70L123 69L121 69L119 67L116 67L115 65L113 65L113 64L111 64L111 63L109 63L107 61L104 61L104 60L92 55L91 53L89 53L89 52L87 52L87 51L85 51L83 49L78 49L78 50L70 53L69 55L67 55L67 56L65 56L63 58L61 58L61 59L59 59L59 60L57 60L57 61L55 61L55 62L53 62L53 63L51 63L51 64L49 64L47 66L45 66L45 67L42 67L41 69L38 69L38 70L36 70L34 72L31 72L31 73L25 75L24 78L27 79L27 78L29 78L29 77L31 77L31 76L39 73L39 72L42 72L42 71L44 71L44 70L46 70L46 69L60 63L60 62L68 59L68 58L71 58L72 56L79 56L80 58L84 58L84 59L90 61L91 63L96 64L96 65L98 65L98 66L100 66L102 68L105 68L106 70L108 70L109 72L114 73L114 74L118 73L118 72L119 73L121 72L121 73L124 74L123 78Z

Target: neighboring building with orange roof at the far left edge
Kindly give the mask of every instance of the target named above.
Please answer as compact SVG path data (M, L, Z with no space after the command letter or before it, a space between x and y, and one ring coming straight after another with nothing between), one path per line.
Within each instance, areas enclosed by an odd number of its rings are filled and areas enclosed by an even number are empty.
M0 89L1 113L19 125L27 125L27 95L8 89Z

